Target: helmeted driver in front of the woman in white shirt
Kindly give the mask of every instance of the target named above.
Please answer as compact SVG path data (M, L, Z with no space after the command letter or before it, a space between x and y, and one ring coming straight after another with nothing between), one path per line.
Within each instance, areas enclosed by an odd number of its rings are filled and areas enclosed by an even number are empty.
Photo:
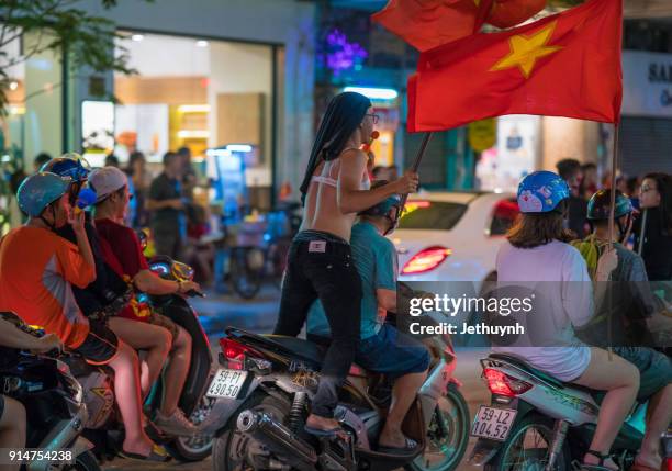
M651 292L643 259L628 250L623 243L632 229L632 203L616 190L614 206L614 235L609 240L608 218L611 192L600 190L589 201L587 218L593 233L583 240L572 243L586 259L589 272L594 277L595 260L606 250L609 242L618 254L618 266L608 282L611 306L606 300L597 309L597 315L580 333L581 339L591 345L614 347L616 355L637 367L640 375L638 401L648 401L647 433L632 471L659 470L660 436L672 420L672 361L645 345L651 345L647 318L664 306ZM607 335L607 330L611 330Z

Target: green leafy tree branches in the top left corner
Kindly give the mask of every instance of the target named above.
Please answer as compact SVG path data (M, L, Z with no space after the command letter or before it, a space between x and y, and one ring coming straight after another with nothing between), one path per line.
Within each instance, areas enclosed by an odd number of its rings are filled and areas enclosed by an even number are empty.
M100 0L108 10L117 0ZM153 1L153 0L141 0ZM77 8L79 0L0 0L0 113L7 112L8 89L12 81L8 68L22 64L45 51L67 54L74 69L114 70L132 74L125 49L114 54L114 40L121 37L114 22ZM23 34L34 34L35 42L20 55L7 46Z

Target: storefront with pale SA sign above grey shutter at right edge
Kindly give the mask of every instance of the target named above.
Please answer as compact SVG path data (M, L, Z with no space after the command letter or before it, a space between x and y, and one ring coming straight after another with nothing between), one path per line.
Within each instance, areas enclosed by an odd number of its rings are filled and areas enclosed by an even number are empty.
M672 54L624 51L623 171L672 172Z

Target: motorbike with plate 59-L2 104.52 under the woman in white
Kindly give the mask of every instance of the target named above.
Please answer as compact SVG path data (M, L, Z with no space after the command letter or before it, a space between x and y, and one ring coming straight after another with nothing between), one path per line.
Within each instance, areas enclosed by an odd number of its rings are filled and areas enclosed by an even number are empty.
M491 354L481 360L492 393L470 435L478 441L470 462L488 470L570 470L589 449L604 393L563 383L517 357ZM645 435L646 403L636 403L612 447L619 469L629 469ZM672 434L663 450L672 450ZM668 460L668 468L670 468Z

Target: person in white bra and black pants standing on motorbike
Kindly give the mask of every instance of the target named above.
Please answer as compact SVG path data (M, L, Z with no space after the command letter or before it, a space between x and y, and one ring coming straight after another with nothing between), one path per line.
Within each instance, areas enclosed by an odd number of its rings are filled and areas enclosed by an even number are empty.
M371 102L362 94L345 92L335 97L320 124L301 184L303 222L290 247L273 333L299 335L313 301L322 301L332 343L305 426L316 435L340 430L333 418L337 388L350 369L359 341L361 281L350 260L349 245L357 212L392 194L417 189L414 172L369 189L368 156L360 148L370 141L377 119Z

